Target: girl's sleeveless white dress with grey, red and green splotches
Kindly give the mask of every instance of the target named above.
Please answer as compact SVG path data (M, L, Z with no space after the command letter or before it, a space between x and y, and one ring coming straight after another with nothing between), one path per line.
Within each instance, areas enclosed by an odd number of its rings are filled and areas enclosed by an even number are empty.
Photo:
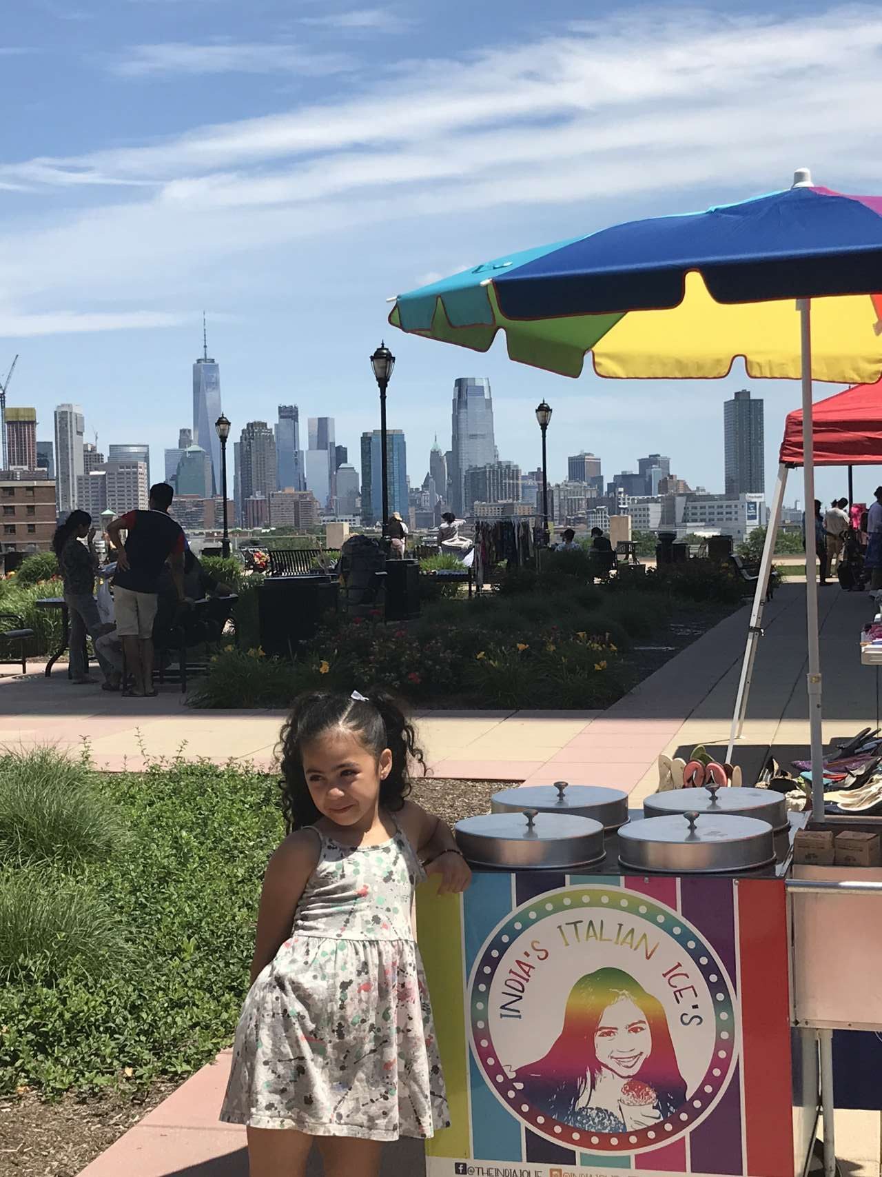
M379 846L321 838L290 938L250 988L220 1118L395 1141L448 1126L413 929L426 876L396 827Z

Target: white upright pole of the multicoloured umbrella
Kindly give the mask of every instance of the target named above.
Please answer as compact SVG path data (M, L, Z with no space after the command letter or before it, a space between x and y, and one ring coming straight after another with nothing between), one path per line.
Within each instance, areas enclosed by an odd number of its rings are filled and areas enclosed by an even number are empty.
M806 496L806 620L808 626L808 704L811 736L811 814L824 816L821 734L821 639L817 627L817 544L815 537L815 454L811 419L811 300L797 302L802 350L802 474Z

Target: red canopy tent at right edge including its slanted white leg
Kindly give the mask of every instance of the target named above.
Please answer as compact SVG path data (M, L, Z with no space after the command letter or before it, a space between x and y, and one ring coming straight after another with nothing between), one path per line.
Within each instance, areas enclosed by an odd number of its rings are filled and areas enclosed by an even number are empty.
M849 467L848 497L850 501L854 498L850 467L882 465L882 380L876 381L876 384L856 384L851 388L846 388L844 392L827 397L826 400L818 400L811 408L811 454L815 465ZM787 414L784 423L777 481L771 497L766 545L760 563L756 594L750 611L747 649L741 669L741 681L731 719L727 753L729 760L731 760L735 740L740 738L744 726L750 678L756 657L756 640L762 634L762 610L769 588L787 472L794 466L802 465L802 410L795 408Z

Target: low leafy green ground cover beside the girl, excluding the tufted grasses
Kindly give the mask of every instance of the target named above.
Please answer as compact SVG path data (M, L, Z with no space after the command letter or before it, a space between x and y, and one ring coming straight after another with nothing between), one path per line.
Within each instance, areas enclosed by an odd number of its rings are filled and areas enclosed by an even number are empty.
M45 975L32 967L0 984L0 1095L186 1077L229 1045L248 989L261 880L285 836L276 778L173 762L94 785L125 814L136 850L80 882L129 947L96 953L107 966L94 975L56 955Z

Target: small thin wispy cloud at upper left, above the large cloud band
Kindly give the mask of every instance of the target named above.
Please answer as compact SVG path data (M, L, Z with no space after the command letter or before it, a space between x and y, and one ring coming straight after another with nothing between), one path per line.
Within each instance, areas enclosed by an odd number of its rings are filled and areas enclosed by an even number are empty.
M299 73L307 77L341 73L350 67L342 53L313 53L296 45L260 41L169 41L135 45L109 64L123 78L162 74Z

